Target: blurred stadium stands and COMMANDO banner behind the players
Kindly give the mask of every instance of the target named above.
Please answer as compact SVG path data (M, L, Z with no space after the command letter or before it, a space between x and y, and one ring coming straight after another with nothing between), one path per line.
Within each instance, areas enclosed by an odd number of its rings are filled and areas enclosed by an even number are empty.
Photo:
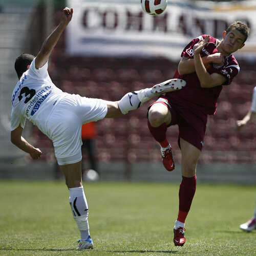
M118 100L129 91L171 78L181 50L191 38L209 33L221 39L227 25L246 22L251 34L234 56L241 71L219 98L217 113L209 116L198 181L256 182L256 124L236 131L256 86L255 1L175 1L153 17L143 13L139 0L0 0L0 178L54 179L56 161L51 141L29 121L24 137L44 153L31 161L10 142L11 94L17 82L16 57L37 54L58 24L65 7L74 16L53 51L49 73L57 87L87 97ZM152 101L153 102L153 101ZM181 152L177 127L168 129L176 170L161 163L159 145L147 129L150 102L121 118L97 122L96 151L102 180L179 181ZM83 160L88 161L87 155Z

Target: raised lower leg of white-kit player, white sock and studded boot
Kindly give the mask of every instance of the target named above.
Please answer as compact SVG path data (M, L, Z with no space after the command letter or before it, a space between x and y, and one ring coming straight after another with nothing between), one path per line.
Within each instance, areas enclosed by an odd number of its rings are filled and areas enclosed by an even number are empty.
M126 114L131 110L138 109L144 102L155 96L167 92L173 92L185 87L186 82L181 79L169 79L162 83L156 84L152 88L145 88L139 91L125 94L118 102L119 109L122 114Z

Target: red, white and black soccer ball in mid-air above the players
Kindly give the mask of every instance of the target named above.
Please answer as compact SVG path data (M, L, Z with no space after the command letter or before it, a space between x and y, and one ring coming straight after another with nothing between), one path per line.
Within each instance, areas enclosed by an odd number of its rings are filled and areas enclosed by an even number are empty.
M167 0L140 0L142 10L150 15L159 15L164 12Z

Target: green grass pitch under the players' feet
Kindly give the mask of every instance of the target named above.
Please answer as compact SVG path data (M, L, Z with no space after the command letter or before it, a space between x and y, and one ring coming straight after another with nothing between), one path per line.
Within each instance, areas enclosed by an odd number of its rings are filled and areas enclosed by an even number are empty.
M186 243L173 244L177 183L84 183L93 250L76 250L79 231L64 181L0 181L0 255L256 255L256 186L198 184Z

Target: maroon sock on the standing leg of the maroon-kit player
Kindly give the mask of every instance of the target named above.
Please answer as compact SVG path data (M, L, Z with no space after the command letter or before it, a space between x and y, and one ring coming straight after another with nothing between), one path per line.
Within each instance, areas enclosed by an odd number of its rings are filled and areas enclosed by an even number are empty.
M182 176L182 181L180 183L179 190L179 214L178 221L185 223L188 211L192 204L192 200L196 193L197 187L197 176L194 177L184 177Z

